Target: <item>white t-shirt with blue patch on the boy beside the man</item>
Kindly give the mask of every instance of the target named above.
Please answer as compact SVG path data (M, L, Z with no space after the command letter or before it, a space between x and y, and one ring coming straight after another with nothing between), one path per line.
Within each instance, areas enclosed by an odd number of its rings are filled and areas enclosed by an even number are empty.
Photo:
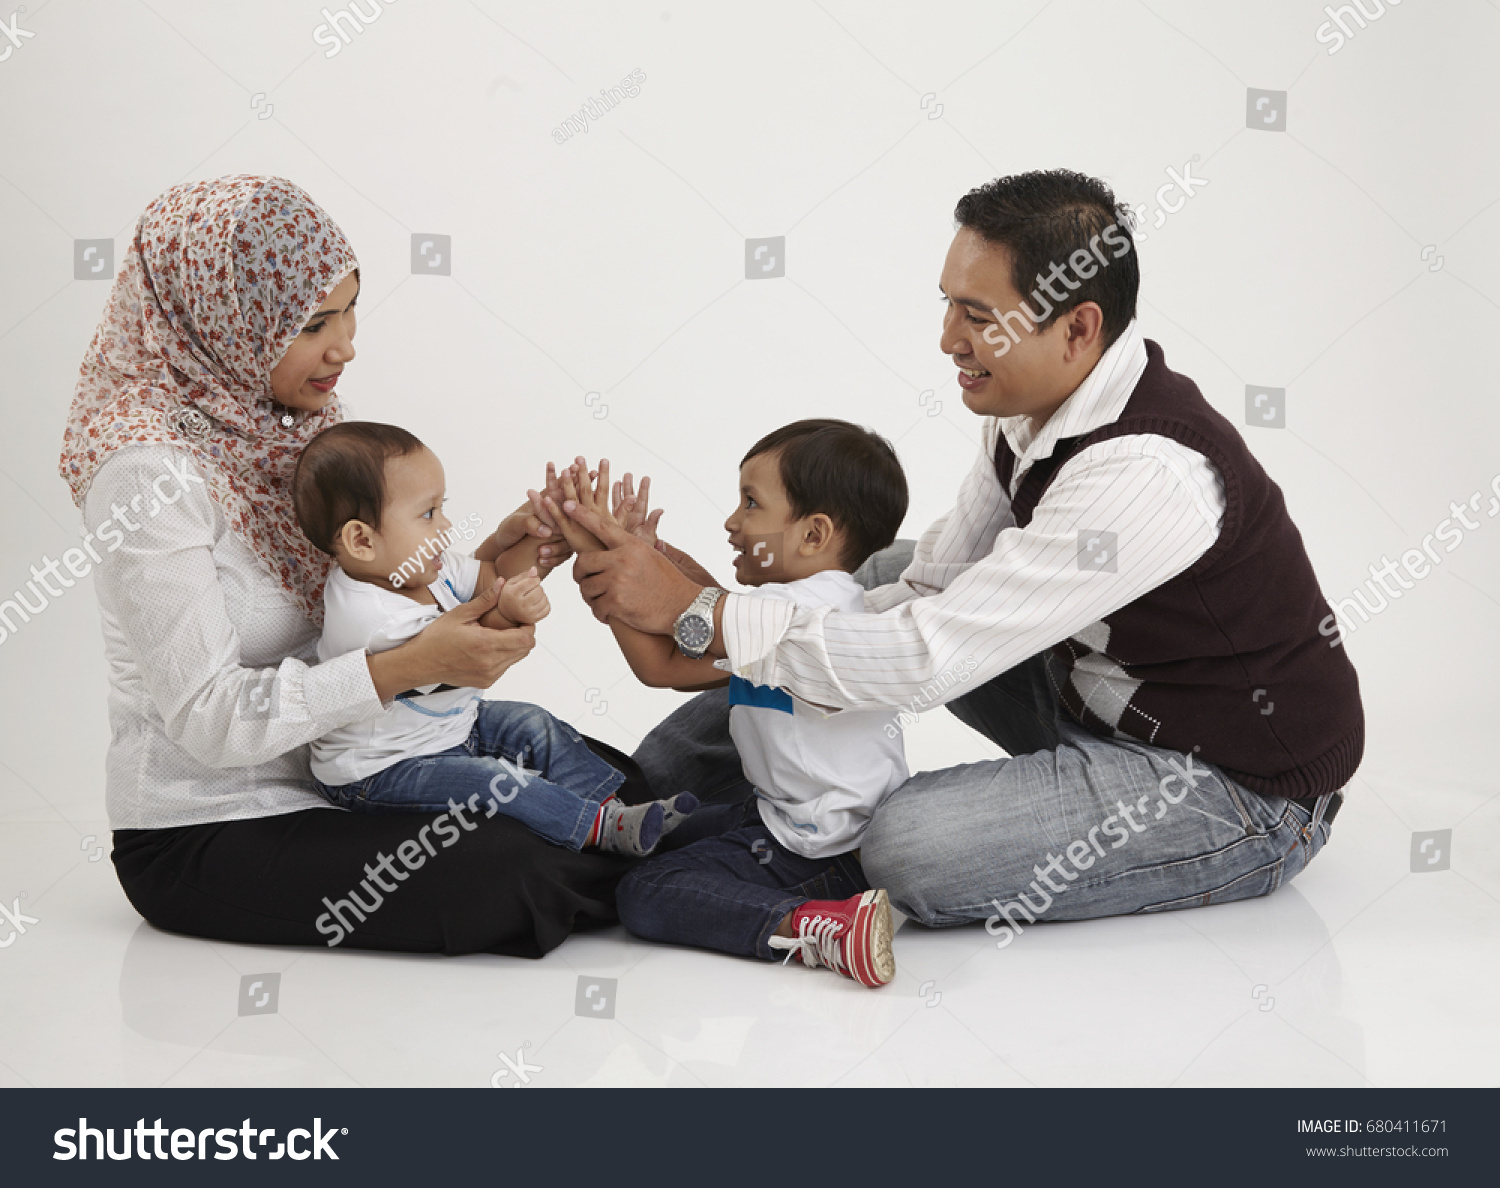
M864 610L864 586L842 570L746 591L800 608ZM728 660L716 662L728 668ZM729 734L746 778L760 796L760 820L777 842L804 858L858 848L876 806L909 776L900 735L885 729L891 711L826 714L782 688L729 678Z

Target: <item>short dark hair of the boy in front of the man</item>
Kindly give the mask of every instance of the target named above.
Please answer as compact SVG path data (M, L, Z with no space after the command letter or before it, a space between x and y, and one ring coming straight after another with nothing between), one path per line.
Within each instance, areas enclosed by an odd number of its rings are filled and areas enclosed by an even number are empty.
M766 434L740 459L776 453L796 519L822 512L844 536L848 570L884 549L906 519L906 474L891 442L842 420L801 420Z

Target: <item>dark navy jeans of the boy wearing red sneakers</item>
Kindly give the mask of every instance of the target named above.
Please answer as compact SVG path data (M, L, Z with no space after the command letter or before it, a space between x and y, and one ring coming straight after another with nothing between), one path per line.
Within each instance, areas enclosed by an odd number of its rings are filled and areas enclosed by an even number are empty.
M788 912L870 890L854 854L802 858L786 849L754 800L704 806L681 828L688 825L723 831L648 858L615 890L620 921L646 940L780 960L770 939Z

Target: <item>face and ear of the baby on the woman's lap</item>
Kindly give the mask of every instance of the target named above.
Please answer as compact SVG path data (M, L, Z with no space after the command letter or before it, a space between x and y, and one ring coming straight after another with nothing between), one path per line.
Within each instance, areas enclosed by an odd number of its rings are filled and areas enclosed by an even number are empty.
M444 490L442 464L432 450L387 458L380 531L358 542L360 552L372 555L340 556L345 572L396 590L432 585L441 572L442 540L453 528L442 514Z

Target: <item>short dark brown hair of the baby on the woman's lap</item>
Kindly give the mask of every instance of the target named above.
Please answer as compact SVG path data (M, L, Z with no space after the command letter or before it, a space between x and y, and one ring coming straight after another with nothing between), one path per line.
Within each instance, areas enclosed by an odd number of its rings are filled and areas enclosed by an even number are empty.
M344 422L318 434L297 459L291 500L302 534L330 556L350 520L380 530L386 506L386 459L423 448L394 424Z

